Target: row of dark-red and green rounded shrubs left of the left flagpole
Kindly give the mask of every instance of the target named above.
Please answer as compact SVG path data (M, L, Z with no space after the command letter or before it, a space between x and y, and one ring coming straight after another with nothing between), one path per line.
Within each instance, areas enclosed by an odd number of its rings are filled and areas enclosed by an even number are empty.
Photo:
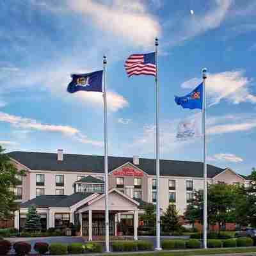
M7 255L12 248L12 243L7 240L0 241L0 255ZM13 244L15 253L19 256L27 255L31 251L31 245L26 242L17 242ZM60 244L38 242L34 245L34 250L40 255L49 252L51 255L62 255L62 254L77 254L85 252L100 253L102 252L102 244L100 243L72 243L72 244Z

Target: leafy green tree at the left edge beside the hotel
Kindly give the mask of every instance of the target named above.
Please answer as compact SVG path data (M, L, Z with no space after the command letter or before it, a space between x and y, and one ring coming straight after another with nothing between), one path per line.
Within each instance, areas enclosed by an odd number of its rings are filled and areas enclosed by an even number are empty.
M13 211L19 209L15 203L15 186L20 184L17 175L24 175L18 172L17 168L11 163L10 158L4 154L4 149L0 146L0 219L13 218Z

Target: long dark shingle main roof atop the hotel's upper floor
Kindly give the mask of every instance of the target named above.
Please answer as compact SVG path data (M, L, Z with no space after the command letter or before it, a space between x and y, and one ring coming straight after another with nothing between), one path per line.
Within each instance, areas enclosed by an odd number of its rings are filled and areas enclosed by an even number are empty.
M63 161L57 161L57 154L54 153L14 151L8 153L8 156L24 164L31 170L104 172L103 156L64 154ZM109 156L109 172L127 162L132 163L132 157ZM156 160L140 158L138 168L149 175L156 175ZM163 176L203 177L203 164L192 161L161 160L160 172ZM223 169L207 164L209 178L221 172L223 172Z

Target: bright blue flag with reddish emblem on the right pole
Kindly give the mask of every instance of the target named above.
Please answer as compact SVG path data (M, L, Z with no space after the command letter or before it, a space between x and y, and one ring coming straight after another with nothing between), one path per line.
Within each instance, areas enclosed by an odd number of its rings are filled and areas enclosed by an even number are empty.
M188 93L186 96L175 96L175 102L177 103L177 105L181 105L182 108L202 109L203 83L199 84L191 93Z

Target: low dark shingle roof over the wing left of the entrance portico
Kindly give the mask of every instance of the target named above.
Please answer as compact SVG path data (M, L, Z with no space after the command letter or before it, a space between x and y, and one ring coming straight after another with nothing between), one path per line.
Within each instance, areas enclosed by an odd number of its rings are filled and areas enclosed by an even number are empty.
M84 198L92 195L93 193L74 193L72 195L43 195L36 196L23 204L20 204L21 208L29 207L30 205L36 205L38 208L48 207L70 207L77 202L80 202Z

